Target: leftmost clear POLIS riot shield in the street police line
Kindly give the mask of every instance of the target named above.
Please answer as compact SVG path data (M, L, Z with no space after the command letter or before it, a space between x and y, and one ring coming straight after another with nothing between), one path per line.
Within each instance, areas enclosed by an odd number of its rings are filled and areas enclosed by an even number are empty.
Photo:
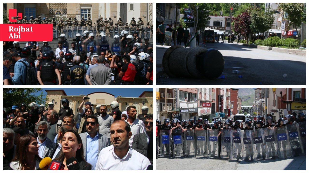
M160 130L160 156L171 154L171 135L170 130Z

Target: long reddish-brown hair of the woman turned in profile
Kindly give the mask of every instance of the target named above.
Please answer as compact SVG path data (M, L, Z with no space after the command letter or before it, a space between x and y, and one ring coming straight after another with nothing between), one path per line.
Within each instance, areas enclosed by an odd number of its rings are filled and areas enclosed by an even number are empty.
M36 139L36 137L32 135L23 135L19 138L19 141L16 145L16 156L12 161L19 161L19 168L30 169L30 165L26 165L28 160L28 153L26 151L26 147L30 144L32 138ZM34 156L36 160L41 161L39 155Z

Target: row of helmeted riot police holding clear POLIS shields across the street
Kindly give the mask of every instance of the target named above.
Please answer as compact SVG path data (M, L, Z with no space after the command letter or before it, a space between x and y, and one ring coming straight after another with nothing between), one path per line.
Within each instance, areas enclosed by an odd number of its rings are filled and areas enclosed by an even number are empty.
M157 119L157 159L158 156L205 156L240 162L305 155L304 116L304 113L299 113L298 119L295 119L296 115L286 115L287 123L285 119L279 118L277 124L273 123L270 116L263 124L262 117L257 116L255 127L252 126L252 120L247 119L244 128L242 120L233 123L233 120L228 119L221 124L219 118L210 127L209 121L201 118L197 119L197 125L193 119L181 122L178 119L172 119L171 122L165 119L163 125Z

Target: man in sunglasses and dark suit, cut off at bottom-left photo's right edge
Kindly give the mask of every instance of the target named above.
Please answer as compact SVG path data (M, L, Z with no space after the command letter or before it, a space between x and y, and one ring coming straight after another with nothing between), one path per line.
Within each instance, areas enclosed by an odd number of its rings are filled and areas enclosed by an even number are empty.
M136 150L137 152L141 153L142 155L147 157L147 148L149 139L152 138L151 134L153 131L153 117L152 115L147 115L144 121L144 125L146 128L146 131L144 133L140 133L137 135L134 135L133 137L133 143L132 148ZM148 158L150 160L150 163L152 161L152 158Z

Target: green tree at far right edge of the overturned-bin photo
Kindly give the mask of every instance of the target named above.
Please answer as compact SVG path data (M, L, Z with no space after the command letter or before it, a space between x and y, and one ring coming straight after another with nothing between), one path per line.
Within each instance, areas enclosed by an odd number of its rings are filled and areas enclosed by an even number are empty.
M295 26L297 36L299 36L297 26L301 26L303 22L303 3L279 3L278 9L282 9L284 13L287 13L286 19L290 21L289 26L293 24Z

